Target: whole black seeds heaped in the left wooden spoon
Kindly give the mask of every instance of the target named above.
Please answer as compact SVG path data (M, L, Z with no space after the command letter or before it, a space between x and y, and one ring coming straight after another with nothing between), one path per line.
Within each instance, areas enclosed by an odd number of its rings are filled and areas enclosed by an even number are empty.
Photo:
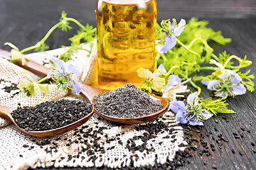
M36 107L18 107L11 115L19 127L25 130L41 131L69 125L91 111L92 106L85 101L62 99L47 101Z

